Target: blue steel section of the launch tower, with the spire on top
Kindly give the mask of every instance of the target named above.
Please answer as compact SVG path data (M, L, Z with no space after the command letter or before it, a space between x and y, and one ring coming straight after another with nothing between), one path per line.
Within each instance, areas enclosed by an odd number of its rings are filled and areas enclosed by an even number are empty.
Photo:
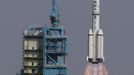
M51 26L43 34L43 75L66 75L65 56L67 37L60 26L56 0L52 0Z

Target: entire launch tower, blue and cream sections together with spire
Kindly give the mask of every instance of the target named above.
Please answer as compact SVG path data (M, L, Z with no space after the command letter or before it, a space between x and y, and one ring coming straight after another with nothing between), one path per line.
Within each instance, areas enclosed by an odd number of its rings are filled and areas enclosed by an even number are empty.
M67 37L52 0L50 26L31 26L23 34L23 68L17 75L67 75Z

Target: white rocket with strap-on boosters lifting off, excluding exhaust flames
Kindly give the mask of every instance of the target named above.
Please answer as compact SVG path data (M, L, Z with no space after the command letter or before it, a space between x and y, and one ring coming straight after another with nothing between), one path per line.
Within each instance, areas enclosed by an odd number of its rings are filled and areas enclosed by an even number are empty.
M92 1L92 27L88 33L87 61L93 64L104 61L104 36L100 28L100 0Z

